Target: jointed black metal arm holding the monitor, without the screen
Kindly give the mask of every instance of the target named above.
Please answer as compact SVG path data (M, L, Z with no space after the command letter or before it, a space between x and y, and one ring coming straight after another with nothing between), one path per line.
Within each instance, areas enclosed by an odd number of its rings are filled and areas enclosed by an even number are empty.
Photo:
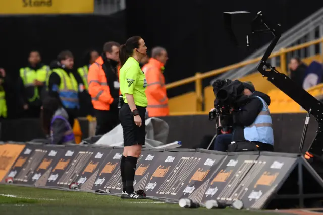
M274 35L274 39L265 51L261 61L257 66L257 70L262 74L263 77L267 77L267 80L273 83L278 89L283 91L296 103L298 103L307 112L315 117L318 122L318 129L316 131L316 137L314 138L311 146L308 149L312 155L323 158L323 103L318 101L315 97L310 95L301 86L298 86L294 81L292 81L288 76L278 72L275 67L271 66L266 61L270 57L272 51L274 50L279 38L281 37L280 24L276 27L270 25L267 20L265 20L261 11L257 14L253 22L260 21L263 23L268 30ZM256 30L254 31L256 32Z

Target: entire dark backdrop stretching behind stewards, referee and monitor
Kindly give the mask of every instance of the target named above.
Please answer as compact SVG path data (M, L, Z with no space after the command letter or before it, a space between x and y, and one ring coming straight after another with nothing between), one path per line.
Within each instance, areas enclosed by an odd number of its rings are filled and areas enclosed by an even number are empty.
M128 0L125 11L111 16L0 16L0 67L6 69L12 85L19 69L27 64L30 50L39 50L43 62L49 64L64 49L75 55L81 66L89 48L101 51L104 42L124 43L130 36L142 36L148 48L160 45L169 52L165 76L167 83L195 72L206 72L244 59L249 53L238 49L224 31L223 12L260 10L273 23L281 23L286 31L319 8L323 2L309 0ZM264 37L259 44L270 38ZM210 79L203 81L204 86ZM169 97L194 90L194 84L168 91ZM12 91L7 94L9 118L15 118L17 105ZM9 99L9 100L8 100Z

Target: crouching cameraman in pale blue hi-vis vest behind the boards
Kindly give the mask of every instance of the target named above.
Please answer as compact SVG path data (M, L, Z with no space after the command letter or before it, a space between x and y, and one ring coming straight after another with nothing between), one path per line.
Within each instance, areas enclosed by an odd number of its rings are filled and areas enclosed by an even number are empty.
M268 95L255 91L251 82L244 82L248 101L233 111L233 138L228 151L274 151L272 117Z

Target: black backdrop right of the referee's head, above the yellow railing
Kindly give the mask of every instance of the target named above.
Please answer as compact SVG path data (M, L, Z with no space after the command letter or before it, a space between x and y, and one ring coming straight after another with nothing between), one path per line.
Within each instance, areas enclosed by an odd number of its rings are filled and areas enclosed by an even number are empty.
M232 44L223 30L223 12L262 11L285 32L318 9L320 1L271 0L127 0L128 36L141 35L149 47L164 46L169 52L165 76L168 83L195 72L221 68L248 56L248 52ZM259 44L270 41L266 37ZM250 54L250 53L249 53ZM203 82L209 84L210 79ZM194 84L171 89L170 97L194 90Z

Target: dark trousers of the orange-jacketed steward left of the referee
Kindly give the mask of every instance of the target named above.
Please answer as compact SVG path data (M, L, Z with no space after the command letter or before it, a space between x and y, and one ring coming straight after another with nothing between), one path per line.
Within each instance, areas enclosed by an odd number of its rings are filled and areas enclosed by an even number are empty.
M119 110L116 111L103 111L94 110L96 117L96 130L95 135L104 135L115 128L119 122Z

